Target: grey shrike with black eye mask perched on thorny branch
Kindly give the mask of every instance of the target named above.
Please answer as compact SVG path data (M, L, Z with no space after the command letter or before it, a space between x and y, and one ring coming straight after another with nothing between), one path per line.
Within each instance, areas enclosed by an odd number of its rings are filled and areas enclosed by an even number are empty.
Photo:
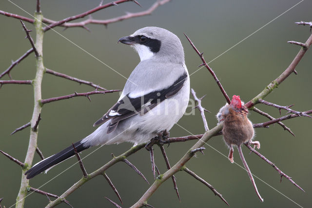
M189 102L190 79L179 38L159 27L144 27L118 42L131 45L140 62L127 80L117 103L95 124L97 130L74 146L78 152L91 146L147 142L170 130ZM31 179L75 155L69 146L30 168Z

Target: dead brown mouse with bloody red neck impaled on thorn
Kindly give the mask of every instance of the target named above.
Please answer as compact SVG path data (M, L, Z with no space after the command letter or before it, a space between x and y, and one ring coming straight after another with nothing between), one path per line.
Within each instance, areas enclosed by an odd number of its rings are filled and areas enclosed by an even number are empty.
M241 145L248 143L250 145L254 145L259 149L260 143L257 141L252 141L254 138L254 127L252 122L248 119L248 109L244 107L242 101L240 100L239 96L234 95L231 101L231 104L225 104L223 107L220 108L216 118L219 123L223 123L223 139L227 146L230 148L229 153L229 160L231 163L234 163L233 157L233 145L237 146L239 156L247 170L247 173L252 181L254 186L255 192L263 202L262 197L260 196L257 187L254 183L253 175L245 161Z

